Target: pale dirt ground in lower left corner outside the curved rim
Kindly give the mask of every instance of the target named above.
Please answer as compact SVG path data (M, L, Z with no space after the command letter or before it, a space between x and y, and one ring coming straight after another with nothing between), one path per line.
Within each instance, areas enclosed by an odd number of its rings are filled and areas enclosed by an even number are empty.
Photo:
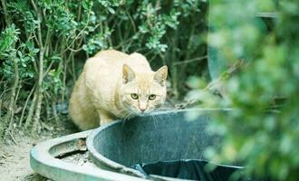
M79 131L69 120L59 125L47 125L40 134L28 134L23 131L14 132L0 142L0 180L4 181L43 181L49 180L34 173L30 167L29 153L31 148L39 142L57 138ZM31 135L31 136L28 136Z

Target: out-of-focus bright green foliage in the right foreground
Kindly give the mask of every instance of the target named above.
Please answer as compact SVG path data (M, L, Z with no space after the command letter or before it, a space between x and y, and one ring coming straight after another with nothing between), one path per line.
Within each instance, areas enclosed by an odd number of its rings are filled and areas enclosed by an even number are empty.
M209 45L225 69L245 63L218 74L222 98L207 89L192 93L208 107L233 109L217 115L211 130L226 139L219 153L208 149L207 157L242 162L251 176L298 179L298 10L296 0L211 2Z

